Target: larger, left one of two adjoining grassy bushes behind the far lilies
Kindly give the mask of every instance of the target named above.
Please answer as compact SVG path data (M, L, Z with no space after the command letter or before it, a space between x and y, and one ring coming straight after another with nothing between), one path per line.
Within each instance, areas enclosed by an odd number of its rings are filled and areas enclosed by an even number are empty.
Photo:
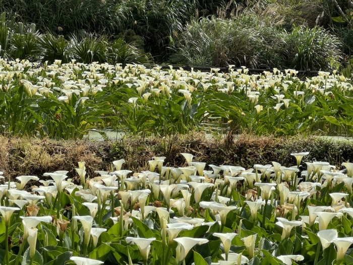
M176 51L193 66L279 66L281 58L275 52L281 42L278 35L275 25L255 15L203 18L184 27Z

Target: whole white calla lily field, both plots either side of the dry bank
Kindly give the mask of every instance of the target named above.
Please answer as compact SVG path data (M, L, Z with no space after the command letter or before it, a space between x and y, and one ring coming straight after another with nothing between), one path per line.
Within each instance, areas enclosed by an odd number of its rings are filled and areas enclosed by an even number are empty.
M352 105L351 80L337 71L0 59L5 137L351 136ZM303 160L308 150L298 151L292 166L275 157L209 165L194 150L177 154L173 167L167 154L151 155L142 171L122 155L109 169L81 161L40 176L0 164L0 263L352 264L353 164Z

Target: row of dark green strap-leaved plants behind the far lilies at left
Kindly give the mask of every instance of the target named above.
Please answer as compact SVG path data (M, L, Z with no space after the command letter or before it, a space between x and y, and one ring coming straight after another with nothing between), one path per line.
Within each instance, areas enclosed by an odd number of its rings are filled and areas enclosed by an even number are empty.
M29 60L46 62L55 60L68 63L76 60L81 63L109 62L148 63L151 56L139 48L126 43L122 38L109 41L107 37L93 34L72 34L68 40L63 35L50 32L40 33L36 24L7 20L6 14L0 18L0 57L9 60Z

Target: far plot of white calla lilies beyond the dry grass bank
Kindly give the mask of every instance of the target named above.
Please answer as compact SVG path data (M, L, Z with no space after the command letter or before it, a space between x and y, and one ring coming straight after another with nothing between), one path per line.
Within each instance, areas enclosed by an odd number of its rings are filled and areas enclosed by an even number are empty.
M248 74L0 61L0 133L80 139L89 130L166 136L226 127L256 135L352 135L350 80L334 72ZM218 122L215 122L218 121Z

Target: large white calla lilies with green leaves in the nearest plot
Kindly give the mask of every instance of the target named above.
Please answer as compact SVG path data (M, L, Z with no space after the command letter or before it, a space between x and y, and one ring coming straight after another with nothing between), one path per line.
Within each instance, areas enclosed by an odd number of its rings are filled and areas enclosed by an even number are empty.
M2 264L349 264L353 164L277 162L250 169L181 167L154 156L149 171L19 176L0 185ZM209 170L206 170L206 166ZM0 179L7 176L0 172ZM32 186L34 181L40 186ZM39 182L38 182L39 181ZM40 229L38 229L40 227ZM193 251L191 251L193 249Z

